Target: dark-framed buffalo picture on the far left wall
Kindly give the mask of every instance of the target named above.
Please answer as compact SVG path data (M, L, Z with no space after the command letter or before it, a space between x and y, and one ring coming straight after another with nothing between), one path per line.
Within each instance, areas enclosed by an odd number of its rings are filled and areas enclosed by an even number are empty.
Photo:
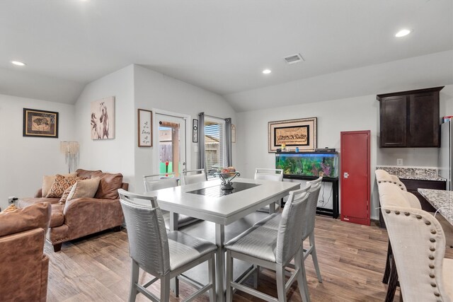
M23 108L23 137L58 138L58 112Z

